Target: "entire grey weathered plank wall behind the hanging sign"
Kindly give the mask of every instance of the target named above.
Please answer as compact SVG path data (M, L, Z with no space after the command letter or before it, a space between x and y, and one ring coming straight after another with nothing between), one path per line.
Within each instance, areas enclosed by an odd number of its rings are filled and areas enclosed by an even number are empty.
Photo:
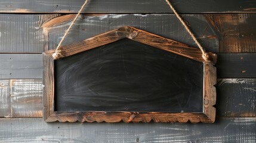
M83 2L0 0L0 142L256 142L256 1L171 1L218 54L215 123L45 123L41 53ZM91 0L64 44L125 25L196 46L164 0Z

